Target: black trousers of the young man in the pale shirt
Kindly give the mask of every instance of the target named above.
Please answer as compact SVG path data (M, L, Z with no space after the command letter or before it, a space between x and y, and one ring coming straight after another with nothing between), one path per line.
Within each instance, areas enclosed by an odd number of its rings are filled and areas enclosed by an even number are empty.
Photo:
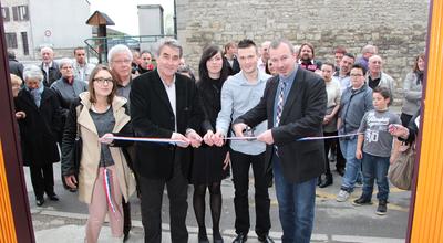
M246 155L230 149L233 180L235 188L234 207L236 212L236 233L247 234L249 221L249 167L253 165L255 204L256 204L256 233L258 236L268 235L270 229L268 177L265 173L265 152L260 155Z

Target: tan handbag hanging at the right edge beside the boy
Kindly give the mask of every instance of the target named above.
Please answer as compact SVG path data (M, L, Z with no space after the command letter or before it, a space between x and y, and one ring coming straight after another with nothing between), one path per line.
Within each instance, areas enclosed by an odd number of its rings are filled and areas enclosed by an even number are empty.
M415 142L406 149L401 149L388 171L388 178L392 184L402 190L411 190L412 176L415 163Z

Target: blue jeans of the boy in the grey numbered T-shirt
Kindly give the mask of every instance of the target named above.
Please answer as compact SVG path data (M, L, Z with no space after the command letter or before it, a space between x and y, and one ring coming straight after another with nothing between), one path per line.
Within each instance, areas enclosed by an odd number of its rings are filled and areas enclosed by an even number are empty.
M371 156L363 152L363 197L372 198L373 182L377 179L379 192L377 199L387 201L389 194L388 183L389 157Z

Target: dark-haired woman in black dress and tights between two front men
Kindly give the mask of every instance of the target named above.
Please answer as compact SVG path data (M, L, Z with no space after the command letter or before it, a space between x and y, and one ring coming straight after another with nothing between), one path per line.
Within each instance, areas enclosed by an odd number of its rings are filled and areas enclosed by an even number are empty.
M199 62L199 82L197 88L204 110L204 120L199 134L206 142L215 133L218 112L222 109L222 86L228 77L228 64L224 61L222 50L215 45L206 47ZM210 142L209 142L210 145ZM206 188L210 193L210 213L213 216L214 242L222 243L219 231L222 212L220 182L226 176L227 147L203 145L194 150L194 163L190 181L194 184L193 205L198 223L198 242L209 242L205 226Z

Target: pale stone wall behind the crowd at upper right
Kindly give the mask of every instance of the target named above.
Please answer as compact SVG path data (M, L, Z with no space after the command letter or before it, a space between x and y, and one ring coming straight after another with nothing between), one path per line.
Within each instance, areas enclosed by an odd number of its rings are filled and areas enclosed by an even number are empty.
M427 0L177 0L176 6L177 38L194 68L208 43L223 46L244 38L257 44L276 38L310 42L316 59L331 62L337 46L359 56L362 46L373 44L395 80L396 103L405 74L426 46Z

